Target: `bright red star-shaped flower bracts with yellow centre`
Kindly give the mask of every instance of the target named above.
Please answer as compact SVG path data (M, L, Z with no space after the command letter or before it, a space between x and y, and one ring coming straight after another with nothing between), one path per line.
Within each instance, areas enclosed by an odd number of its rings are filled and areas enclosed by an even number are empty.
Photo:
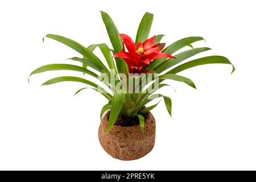
M129 73L142 73L147 72L146 68L150 65L151 60L174 56L168 53L160 53L164 48L164 43L154 45L155 36L145 40L143 43L139 42L138 45L126 34L119 34L125 43L128 52L123 48L122 52L116 53L113 57L122 57L129 67Z

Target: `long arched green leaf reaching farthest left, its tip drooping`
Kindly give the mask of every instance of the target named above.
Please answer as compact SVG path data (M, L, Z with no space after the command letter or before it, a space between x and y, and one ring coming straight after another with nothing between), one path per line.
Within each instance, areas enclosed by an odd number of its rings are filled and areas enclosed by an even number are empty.
M39 67L38 69L35 69L30 73L31 75L34 75L36 73L42 73L46 71L55 71L55 70L71 70L71 71L78 71L78 72L83 72L87 73L90 76L98 78L98 75L96 73L93 73L92 71L89 71L86 68L79 67L77 65L72 65L72 64L47 64L43 65L42 67Z

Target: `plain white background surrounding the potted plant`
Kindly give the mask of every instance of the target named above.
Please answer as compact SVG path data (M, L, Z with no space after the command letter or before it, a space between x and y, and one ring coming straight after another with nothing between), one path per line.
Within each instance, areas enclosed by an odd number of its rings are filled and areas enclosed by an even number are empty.
M46 34L110 46L99 10L134 39L143 14L154 13L150 36L166 35L167 45L203 36L207 42L194 46L213 50L199 56L223 55L236 66L232 75L224 64L181 72L197 90L169 81L177 93L162 93L172 98L173 118L163 102L152 110L155 147L139 160L113 159L101 148L97 132L106 100L100 94L84 90L72 97L84 86L79 83L40 86L81 73L47 72L27 81L41 65L80 56L54 40L43 43ZM0 169L255 170L255 17L255 1L1 1Z

